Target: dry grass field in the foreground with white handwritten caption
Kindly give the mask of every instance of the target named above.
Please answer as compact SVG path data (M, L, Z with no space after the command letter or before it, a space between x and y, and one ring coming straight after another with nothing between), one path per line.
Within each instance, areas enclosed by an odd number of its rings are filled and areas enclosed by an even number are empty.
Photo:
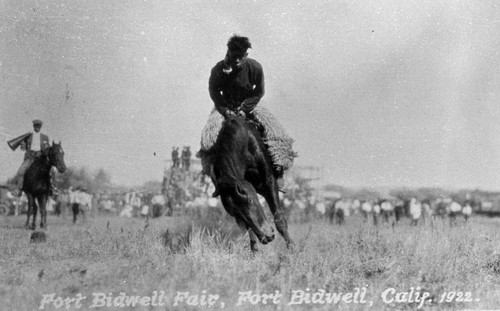
M256 255L222 213L24 221L0 219L0 310L500 309L499 219L291 223Z

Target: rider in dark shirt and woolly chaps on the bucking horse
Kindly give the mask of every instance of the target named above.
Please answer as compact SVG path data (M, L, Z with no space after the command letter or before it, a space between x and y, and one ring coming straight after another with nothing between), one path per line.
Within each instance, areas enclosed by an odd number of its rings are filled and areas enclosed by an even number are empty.
M203 130L198 154L203 171L212 175L211 163L207 163L203 154L215 143L223 117L239 114L257 123L271 153L274 174L281 179L284 170L292 166L296 157L292 151L293 139L267 109L257 107L265 92L264 71L259 62L248 58L248 49L252 48L249 39L233 35L227 47L226 57L212 68L209 79L209 92L215 109Z

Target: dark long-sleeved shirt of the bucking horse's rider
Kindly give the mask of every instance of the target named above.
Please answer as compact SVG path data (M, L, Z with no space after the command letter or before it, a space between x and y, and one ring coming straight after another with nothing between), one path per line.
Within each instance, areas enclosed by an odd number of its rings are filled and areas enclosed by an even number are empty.
M247 58L242 68L233 68L224 72L226 64L218 62L210 74L208 90L215 108L224 114L227 109L235 111L242 102L241 110L249 113L264 96L264 71L262 65L254 59Z

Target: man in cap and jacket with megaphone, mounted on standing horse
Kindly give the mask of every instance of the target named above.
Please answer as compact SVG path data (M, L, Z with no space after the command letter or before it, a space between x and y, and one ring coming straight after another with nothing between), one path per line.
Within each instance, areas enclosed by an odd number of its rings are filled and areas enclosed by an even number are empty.
M21 150L26 150L26 152L24 153L24 161L16 174L18 196L21 196L23 192L24 173L37 158L46 154L50 148L49 137L41 132L42 125L41 120L33 120L33 132L23 135L24 139L20 142Z

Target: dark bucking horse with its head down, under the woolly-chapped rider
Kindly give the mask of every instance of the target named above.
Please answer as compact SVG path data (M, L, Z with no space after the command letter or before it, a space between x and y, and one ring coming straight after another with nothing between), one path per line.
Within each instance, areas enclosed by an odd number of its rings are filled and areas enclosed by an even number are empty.
M266 199L287 247L292 246L271 156L256 124L240 116L227 118L214 146L203 156L213 164L214 197L220 195L224 209L240 228L248 230L251 250L257 251L257 242L267 244L274 239L257 193Z

